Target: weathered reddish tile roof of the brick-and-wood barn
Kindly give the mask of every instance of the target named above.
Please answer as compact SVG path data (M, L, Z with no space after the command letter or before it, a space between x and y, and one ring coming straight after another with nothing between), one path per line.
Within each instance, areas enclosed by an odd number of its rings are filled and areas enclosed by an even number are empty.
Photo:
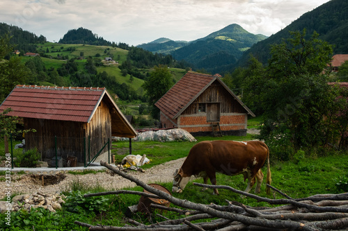
M170 116L171 119L176 119L207 87L212 85L215 80L218 80L250 114L255 116L227 85L220 80L219 76L219 74L212 76L189 71L155 105L159 110Z

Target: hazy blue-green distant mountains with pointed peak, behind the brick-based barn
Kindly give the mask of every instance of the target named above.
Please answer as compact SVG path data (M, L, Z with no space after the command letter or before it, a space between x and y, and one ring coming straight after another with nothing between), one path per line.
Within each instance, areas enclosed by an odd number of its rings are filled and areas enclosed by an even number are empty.
M212 74L221 73L234 65L253 44L267 36L253 35L238 24L225 28L191 42L173 41L161 37L158 40L141 44L153 53L171 54L175 60L191 63L194 69L205 69Z

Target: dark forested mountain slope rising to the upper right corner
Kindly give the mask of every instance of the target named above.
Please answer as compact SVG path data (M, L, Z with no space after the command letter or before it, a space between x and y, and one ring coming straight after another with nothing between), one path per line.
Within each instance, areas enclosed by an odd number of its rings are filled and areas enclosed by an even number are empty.
M250 54L266 64L271 57L269 53L271 44L278 44L281 40L290 37L290 31L302 31L303 28L306 28L308 37L313 35L314 31L319 33L319 39L333 45L334 54L348 53L348 1L331 0L306 12L283 30L254 44L242 55L235 67L246 65Z

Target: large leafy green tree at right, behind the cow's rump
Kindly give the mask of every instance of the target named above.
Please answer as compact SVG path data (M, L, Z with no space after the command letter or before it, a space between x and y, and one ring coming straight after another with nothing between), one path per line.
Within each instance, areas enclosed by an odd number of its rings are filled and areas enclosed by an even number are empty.
M329 134L324 126L338 95L329 85L332 47L306 30L271 46L260 102L264 110L261 138L295 149L320 146ZM276 137L276 139L275 139Z

